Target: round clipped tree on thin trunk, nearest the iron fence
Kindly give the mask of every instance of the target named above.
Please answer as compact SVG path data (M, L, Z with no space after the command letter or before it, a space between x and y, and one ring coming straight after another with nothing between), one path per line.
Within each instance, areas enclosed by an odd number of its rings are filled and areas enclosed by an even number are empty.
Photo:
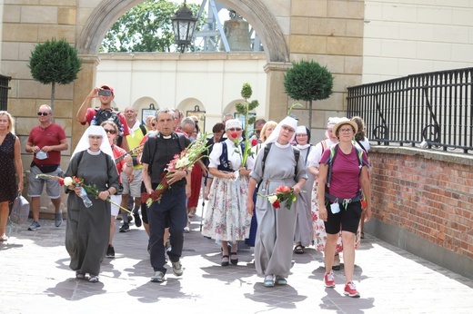
M293 68L284 75L286 93L296 100L309 102L308 127L312 128L312 101L327 99L332 94L334 78L314 61L293 63Z

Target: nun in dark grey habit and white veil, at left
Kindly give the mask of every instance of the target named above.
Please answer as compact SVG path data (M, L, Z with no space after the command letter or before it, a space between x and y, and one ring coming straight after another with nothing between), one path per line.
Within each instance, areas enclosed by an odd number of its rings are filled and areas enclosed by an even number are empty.
M77 143L65 177L84 179L95 185L96 195L87 194L93 205L86 207L78 196L81 188L66 187L67 224L65 249L71 257L69 267L75 270L77 279L98 282L100 263L106 256L110 237L110 203L105 201L118 190L118 172L106 132L101 126L89 126Z

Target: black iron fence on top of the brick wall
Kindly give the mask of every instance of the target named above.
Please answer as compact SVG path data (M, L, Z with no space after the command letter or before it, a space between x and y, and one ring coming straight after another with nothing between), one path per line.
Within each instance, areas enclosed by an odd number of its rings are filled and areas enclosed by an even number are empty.
M473 68L348 87L347 100L370 141L473 152Z

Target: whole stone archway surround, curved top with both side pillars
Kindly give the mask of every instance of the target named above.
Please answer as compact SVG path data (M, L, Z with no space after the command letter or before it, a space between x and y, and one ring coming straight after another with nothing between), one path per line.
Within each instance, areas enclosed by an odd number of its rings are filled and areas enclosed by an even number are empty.
M93 10L86 20L76 42L76 48L83 59L82 71L78 74L74 86L73 112L76 113L80 104L95 86L98 50L108 29L116 22L119 16L126 13L131 7L143 3L143 0L103 0ZM265 116L271 120L279 120L287 111L287 94L284 93L284 73L290 66L289 50L285 34L271 13L271 8L263 0L219 0L218 2L235 9L245 16L252 25L265 46L267 65L267 108ZM289 9L285 8L289 14ZM177 54L179 60L188 56ZM269 110L269 104L271 110ZM75 146L80 138L82 129L73 124L71 143Z

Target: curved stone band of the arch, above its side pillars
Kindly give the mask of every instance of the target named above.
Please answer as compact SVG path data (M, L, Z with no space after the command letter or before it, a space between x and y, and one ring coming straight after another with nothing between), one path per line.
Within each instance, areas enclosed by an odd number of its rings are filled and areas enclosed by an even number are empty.
M79 54L97 54L108 29L127 10L144 1L140 0L105 0L96 6L89 16L77 40ZM260 0L219 0L221 4L235 9L245 16L252 25L259 39L265 46L268 62L288 62L289 51L281 28L269 8Z

